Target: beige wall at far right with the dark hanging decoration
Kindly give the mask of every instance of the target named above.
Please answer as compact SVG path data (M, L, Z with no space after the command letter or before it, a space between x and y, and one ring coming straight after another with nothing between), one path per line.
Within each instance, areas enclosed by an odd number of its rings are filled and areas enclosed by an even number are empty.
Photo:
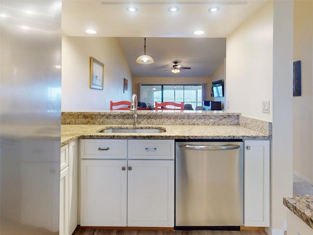
M293 101L293 171L313 184L313 1L294 1L293 61L301 61L301 96Z

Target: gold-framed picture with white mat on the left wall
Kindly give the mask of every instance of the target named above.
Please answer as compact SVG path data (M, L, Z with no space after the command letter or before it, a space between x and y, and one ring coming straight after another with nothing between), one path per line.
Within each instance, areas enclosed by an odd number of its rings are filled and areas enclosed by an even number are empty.
M104 64L90 57L90 85L89 88L103 90Z

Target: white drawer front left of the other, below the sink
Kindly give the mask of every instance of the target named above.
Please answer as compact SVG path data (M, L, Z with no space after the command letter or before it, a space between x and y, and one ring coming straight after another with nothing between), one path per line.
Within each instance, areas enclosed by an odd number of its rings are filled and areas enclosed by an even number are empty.
M127 159L127 140L81 140L82 159Z

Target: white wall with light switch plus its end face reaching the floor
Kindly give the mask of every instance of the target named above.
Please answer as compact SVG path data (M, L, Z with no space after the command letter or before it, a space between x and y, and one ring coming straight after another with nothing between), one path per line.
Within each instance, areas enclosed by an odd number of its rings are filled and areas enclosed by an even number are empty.
M283 235L283 197L292 197L293 1L267 1L226 39L231 111L272 121L269 235ZM269 114L262 100L270 101Z

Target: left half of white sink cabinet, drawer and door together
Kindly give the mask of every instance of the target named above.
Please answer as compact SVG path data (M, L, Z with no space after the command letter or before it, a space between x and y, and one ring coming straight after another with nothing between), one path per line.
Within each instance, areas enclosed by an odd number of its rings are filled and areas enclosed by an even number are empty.
M81 140L81 226L127 225L127 140Z

